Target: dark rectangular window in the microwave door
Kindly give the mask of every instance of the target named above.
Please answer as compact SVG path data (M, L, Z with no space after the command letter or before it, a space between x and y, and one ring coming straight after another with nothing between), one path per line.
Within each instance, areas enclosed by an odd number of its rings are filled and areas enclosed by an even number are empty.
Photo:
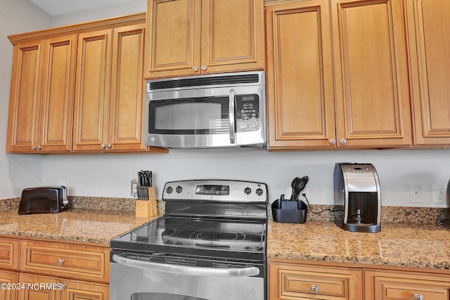
M228 97L150 101L149 112L149 133L229 133Z

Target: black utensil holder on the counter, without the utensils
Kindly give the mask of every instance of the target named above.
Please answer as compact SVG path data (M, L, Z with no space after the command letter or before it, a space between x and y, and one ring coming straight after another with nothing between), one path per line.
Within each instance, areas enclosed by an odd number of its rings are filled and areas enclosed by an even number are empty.
M307 220L307 204L303 201L281 201L272 203L272 216L279 223L304 223Z

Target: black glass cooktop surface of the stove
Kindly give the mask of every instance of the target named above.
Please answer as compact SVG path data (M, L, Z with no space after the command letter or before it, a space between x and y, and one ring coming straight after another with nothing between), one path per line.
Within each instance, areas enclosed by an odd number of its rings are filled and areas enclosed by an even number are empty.
M164 216L111 240L114 249L245 258L264 254L266 222Z

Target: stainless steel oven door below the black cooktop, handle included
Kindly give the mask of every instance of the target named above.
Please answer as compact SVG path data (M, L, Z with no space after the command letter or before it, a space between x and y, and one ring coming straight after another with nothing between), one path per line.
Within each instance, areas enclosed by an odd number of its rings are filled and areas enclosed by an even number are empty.
M113 254L110 300L264 300L265 268L203 268Z

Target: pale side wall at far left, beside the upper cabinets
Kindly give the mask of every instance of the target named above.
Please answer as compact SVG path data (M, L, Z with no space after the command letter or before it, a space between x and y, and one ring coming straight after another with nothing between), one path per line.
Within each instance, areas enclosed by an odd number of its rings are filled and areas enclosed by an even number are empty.
M39 185L41 155L6 155L9 89L13 46L8 35L40 30L51 25L51 17L28 0L0 0L0 199L17 197L20 191Z

